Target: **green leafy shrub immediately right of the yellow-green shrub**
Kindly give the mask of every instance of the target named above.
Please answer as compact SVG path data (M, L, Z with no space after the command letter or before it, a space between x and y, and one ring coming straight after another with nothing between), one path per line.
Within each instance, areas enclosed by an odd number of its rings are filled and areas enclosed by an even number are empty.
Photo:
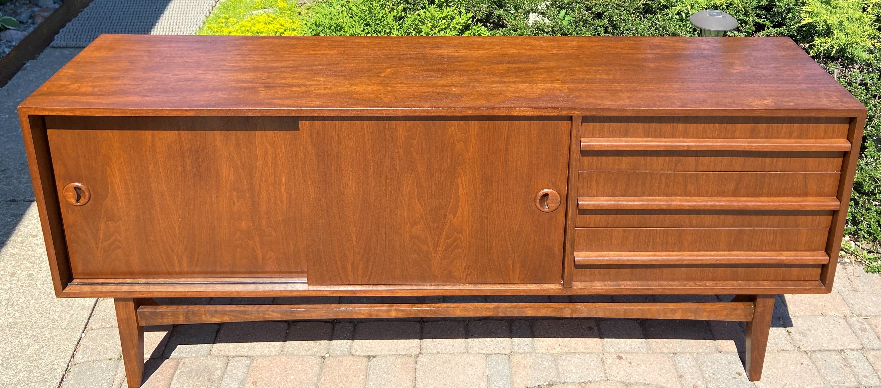
M310 35L485 35L472 14L450 4L408 7L388 0L324 0L310 6Z

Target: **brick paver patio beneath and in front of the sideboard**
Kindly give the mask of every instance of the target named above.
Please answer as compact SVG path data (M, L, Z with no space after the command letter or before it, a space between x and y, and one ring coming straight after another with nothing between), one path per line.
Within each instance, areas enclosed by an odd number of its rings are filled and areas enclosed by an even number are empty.
M731 296L700 296L702 300L717 297ZM681 297L574 296L573 300L637 298ZM375 303L376 299L343 297L339 302ZM401 299L391 302L415 302ZM189 302L235 304L236 300ZM335 303L337 298L263 298L261 302ZM841 264L832 294L778 297L764 376L755 384L747 381L740 358L743 330L736 322L558 318L154 326L146 333L145 354L150 360L144 387L881 386L881 277L866 274L859 266ZM121 358L113 302L100 299L61 386L123 387Z

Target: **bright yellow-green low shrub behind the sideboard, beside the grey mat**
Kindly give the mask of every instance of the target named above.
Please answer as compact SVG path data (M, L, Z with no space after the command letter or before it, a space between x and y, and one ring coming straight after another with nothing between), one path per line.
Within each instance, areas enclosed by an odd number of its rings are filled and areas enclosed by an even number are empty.
M200 35L302 35L303 8L295 0L223 0Z

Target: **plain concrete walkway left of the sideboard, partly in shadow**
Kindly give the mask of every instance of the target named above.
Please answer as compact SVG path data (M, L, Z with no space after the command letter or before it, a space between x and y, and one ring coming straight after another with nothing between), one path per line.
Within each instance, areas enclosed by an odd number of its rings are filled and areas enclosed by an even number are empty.
M56 388L94 299L57 299L16 106L78 49L47 49L0 88L0 387Z

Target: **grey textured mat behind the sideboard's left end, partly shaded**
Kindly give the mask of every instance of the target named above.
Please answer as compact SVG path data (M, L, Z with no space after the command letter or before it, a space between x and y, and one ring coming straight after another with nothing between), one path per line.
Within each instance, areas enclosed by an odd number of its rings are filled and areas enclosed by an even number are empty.
M192 35L218 0L93 0L52 41L53 48L85 48L102 33Z

